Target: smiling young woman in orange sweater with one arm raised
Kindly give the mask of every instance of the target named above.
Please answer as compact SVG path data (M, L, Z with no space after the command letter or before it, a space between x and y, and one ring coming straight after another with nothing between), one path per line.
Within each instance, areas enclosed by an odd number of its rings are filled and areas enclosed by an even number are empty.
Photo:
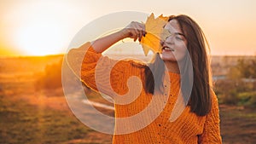
M155 54L148 64L102 56L113 43L126 37L141 41L147 32L138 22L85 43L79 49L71 49L67 61L76 69L74 57L79 59L76 55L87 50L81 72L74 72L91 89L113 97L115 118L131 118L151 107L143 117L116 120L113 143L221 143L218 100L212 90L207 44L201 27L181 14L170 16L164 28L171 36L161 40L160 54ZM188 68L189 60L192 69ZM190 91L183 86L186 84L191 85ZM189 95L188 105L177 118L170 120L178 95ZM152 114L157 109L160 112ZM145 121L147 124L143 125ZM130 132L125 133L127 130Z

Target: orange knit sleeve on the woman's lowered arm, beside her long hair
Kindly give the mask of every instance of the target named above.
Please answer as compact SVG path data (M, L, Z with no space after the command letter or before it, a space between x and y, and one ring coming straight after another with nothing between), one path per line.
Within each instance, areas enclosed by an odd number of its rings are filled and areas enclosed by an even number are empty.
M207 114L206 122L202 135L199 135L199 143L201 144L219 144L222 143L219 129L219 110L218 99L214 91L211 90L212 109Z

